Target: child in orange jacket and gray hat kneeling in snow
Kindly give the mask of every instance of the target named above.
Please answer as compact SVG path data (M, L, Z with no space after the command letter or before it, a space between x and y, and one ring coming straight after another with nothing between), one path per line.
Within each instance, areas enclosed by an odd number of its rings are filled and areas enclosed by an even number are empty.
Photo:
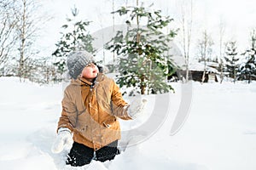
M99 71L102 68L85 51L69 54L67 69L73 80L64 91L52 151L59 153L64 145L73 143L66 163L74 167L89 164L94 156L96 161L113 160L119 153L117 118L135 118L147 100L137 99L128 105L117 84Z

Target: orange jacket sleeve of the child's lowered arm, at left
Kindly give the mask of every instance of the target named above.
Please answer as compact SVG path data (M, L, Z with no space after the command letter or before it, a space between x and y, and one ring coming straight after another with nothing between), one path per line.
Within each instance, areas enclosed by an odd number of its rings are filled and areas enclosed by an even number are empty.
M77 120L77 107L73 103L71 96L68 93L67 88L64 91L64 97L61 102L62 111L61 117L58 122L58 128L60 127L67 127L73 132L73 127L75 127L76 120Z

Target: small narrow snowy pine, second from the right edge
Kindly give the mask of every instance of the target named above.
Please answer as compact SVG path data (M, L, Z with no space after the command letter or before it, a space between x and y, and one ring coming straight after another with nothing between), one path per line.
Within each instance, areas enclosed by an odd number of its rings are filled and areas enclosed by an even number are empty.
M227 42L224 56L225 71L229 73L228 77L233 78L234 83L236 82L236 75L239 70L237 54L236 41Z

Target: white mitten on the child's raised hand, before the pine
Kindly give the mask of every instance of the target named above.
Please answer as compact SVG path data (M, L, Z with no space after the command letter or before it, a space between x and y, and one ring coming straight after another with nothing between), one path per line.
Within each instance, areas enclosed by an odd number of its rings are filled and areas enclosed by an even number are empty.
M129 105L127 110L128 115L131 116L132 119L135 119L138 116L142 115L147 102L147 99L142 99L141 97L136 97L135 99L133 99L131 101L131 105Z

